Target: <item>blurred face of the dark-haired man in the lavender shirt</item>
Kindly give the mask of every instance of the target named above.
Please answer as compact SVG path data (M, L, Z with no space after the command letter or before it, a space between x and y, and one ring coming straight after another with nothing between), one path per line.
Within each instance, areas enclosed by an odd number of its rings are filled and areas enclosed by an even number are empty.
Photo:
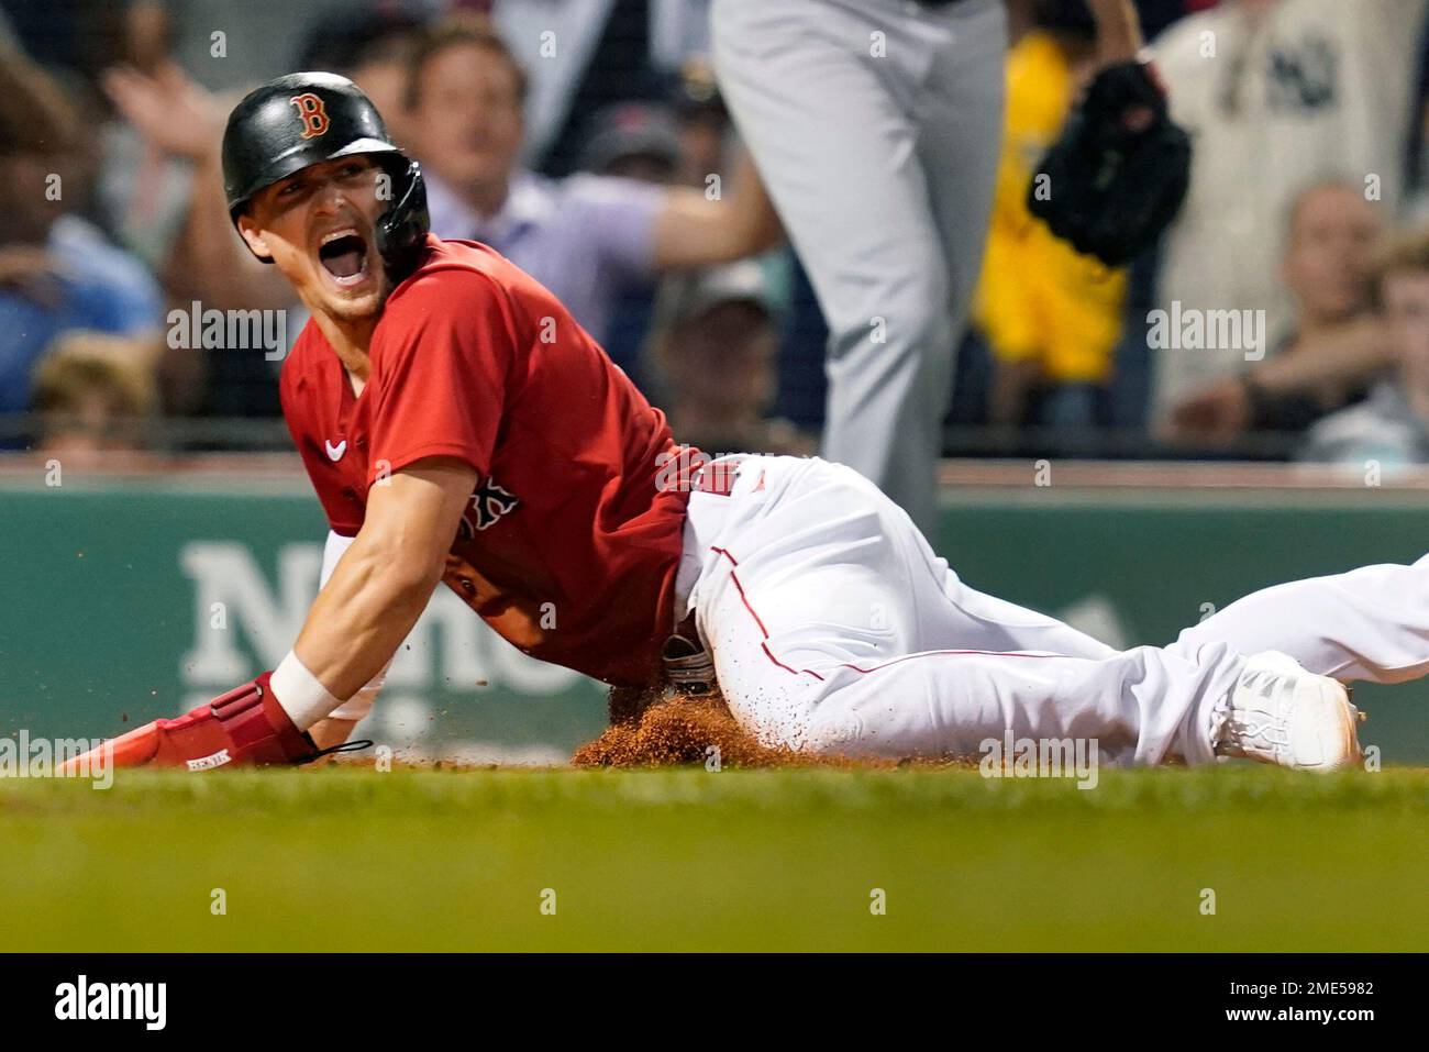
M454 44L426 61L419 87L422 160L463 189L504 186L523 133L516 70L484 47Z

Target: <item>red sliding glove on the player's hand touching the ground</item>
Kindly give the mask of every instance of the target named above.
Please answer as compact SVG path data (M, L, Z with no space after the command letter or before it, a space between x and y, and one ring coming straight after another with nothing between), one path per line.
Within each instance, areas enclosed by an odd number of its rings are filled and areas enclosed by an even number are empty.
M313 739L293 726L273 696L272 675L264 672L184 716L157 719L100 748L113 749L109 763L116 768L213 770L316 759L320 753ZM66 766L84 759L80 756Z

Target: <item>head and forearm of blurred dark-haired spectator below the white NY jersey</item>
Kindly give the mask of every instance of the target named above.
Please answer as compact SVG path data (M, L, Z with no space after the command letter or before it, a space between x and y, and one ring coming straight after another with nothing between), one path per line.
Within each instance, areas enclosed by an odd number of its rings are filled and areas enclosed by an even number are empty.
M1279 273L1296 314L1293 329L1269 360L1293 363L1322 354L1322 347L1349 349L1355 360L1370 353L1383 360L1383 327L1372 302L1380 216L1379 207L1346 182L1323 182L1295 199ZM1296 390L1286 393L1268 390L1258 377L1259 370L1252 367L1183 400L1172 412L1172 437L1226 442L1248 430L1299 432L1360 397L1366 386L1360 377L1312 372Z

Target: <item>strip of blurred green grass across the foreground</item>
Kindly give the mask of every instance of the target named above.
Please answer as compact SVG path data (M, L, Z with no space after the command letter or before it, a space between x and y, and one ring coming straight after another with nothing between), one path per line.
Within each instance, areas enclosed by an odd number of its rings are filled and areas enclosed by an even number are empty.
M0 780L0 951L1429 945L1418 769L121 775Z

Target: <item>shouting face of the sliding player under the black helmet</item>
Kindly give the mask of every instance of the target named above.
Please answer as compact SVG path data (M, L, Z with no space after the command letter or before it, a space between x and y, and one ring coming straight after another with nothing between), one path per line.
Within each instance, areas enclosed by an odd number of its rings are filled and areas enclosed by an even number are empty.
M312 164L257 196L239 230L273 257L310 310L337 320L374 314L390 290L377 254L382 169L370 157Z

